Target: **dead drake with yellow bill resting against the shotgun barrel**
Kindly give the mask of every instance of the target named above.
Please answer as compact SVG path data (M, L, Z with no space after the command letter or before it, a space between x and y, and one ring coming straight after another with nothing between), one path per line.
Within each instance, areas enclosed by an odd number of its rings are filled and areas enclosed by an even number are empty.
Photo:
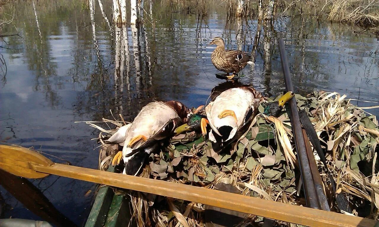
M277 102L268 102L260 92L251 87L231 88L222 92L205 107L211 127L209 139L215 152L221 151L238 139L237 132L246 132L252 119L258 113L258 106L265 107L265 114L277 116L284 104L294 96L287 92Z

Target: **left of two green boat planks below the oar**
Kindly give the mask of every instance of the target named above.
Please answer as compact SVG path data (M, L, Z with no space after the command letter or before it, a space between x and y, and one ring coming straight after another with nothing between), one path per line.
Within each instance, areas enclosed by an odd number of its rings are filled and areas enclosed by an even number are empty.
M114 167L108 168L108 172L114 172ZM100 187L96 199L92 205L85 227L103 227L108 216L112 202L113 190L108 186Z

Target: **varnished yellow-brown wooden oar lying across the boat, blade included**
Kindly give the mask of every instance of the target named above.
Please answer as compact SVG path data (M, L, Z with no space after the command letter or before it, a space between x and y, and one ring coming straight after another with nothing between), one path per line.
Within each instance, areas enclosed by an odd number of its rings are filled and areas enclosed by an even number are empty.
M119 188L198 202L266 218L306 226L373 227L376 221L330 211L284 204L255 197L191 185L134 177L95 169L53 163L43 155L23 147L0 145L0 168L14 175L41 178L49 174L85 180Z

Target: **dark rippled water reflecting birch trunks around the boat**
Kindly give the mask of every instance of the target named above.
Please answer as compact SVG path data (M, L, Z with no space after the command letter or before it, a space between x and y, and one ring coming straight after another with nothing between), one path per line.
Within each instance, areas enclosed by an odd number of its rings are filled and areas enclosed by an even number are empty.
M296 92L337 91L379 101L378 38L356 34L354 28L283 17L273 29L259 30L256 19L231 20L222 6L202 16L196 8L154 2L150 14L146 1L144 23L133 33L130 26L110 29L111 1L102 2L108 21L95 2L94 22L86 2L16 3L13 24L2 30L20 36L4 38L1 45L10 49L0 49L7 68L6 74L4 65L0 70L0 141L34 147L56 162L97 168L91 139L98 131L74 122L110 118L110 111L132 121L152 100L205 104L211 89L224 82L215 77L214 47L207 46L215 36L222 36L228 48L254 50L256 66L247 66L240 82L267 95L284 89L277 39L285 38ZM78 225L85 222L94 184L55 176L33 183L64 215ZM6 218L40 219L4 189L1 194L12 208Z

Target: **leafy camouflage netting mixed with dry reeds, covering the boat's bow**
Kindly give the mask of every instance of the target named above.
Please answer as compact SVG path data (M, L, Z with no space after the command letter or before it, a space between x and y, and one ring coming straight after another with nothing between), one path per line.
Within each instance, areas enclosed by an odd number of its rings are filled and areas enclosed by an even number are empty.
M279 96L280 97L280 96ZM275 100L279 99L276 97ZM313 92L302 97L296 95L299 109L305 109L326 154L327 167L337 183L337 193L348 200L351 215L378 219L379 174L377 169L376 145L379 142L379 128L376 117L364 109L351 105L346 95L330 92ZM299 176L296 151L292 142L291 124L287 111L278 118L260 114L252 122L251 129L230 152L217 154L210 142L188 133L162 144L161 150L151 154L149 163L141 177L214 188L217 183L230 183L243 195L305 206ZM122 118L121 118L122 119ZM104 119L120 127L125 122ZM100 142L106 134L114 130L104 130L99 135ZM120 148L102 142L99 165L106 169L111 158ZM339 211L332 199L332 189L326 168L315 159L321 171L324 189L332 211ZM376 167L376 169L375 169ZM133 216L137 225L142 226L205 226L204 205L193 202L165 199L138 192L127 193L135 210ZM246 217L242 226L257 225L262 222L258 216ZM279 226L295 226L277 222Z

